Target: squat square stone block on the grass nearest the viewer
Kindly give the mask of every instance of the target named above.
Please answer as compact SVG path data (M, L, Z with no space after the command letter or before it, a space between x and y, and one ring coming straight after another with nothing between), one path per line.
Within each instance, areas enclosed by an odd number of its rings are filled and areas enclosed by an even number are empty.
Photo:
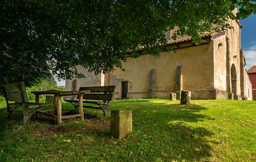
M133 131L131 110L111 111L111 133L114 138L123 139Z

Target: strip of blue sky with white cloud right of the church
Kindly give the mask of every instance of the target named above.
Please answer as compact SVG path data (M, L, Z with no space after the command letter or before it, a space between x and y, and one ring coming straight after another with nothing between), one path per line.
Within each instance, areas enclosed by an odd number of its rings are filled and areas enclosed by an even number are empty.
M240 20L243 25L241 29L241 41L245 53L246 69L256 65L256 15Z

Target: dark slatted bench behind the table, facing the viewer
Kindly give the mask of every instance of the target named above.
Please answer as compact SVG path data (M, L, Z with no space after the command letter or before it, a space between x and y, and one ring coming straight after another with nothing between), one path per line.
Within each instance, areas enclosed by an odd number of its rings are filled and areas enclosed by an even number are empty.
M92 103L94 106L83 105L89 109L100 109L103 111L104 116L108 113L110 102L113 98L115 86L88 86L80 87L79 90L90 90L90 93L85 93L82 97L82 103ZM78 99L64 99L69 103L72 103L75 107L78 107Z

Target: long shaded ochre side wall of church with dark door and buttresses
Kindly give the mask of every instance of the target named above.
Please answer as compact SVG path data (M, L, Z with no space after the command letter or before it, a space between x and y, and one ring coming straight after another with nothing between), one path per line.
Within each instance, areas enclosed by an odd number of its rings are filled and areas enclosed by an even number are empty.
M162 52L160 57L127 57L125 72L117 69L105 76L105 85L115 85L114 98L121 98L121 82L128 81L128 98L148 98L149 74L155 69L155 97L168 98L176 90L176 68L183 68L183 90L214 89L213 42Z

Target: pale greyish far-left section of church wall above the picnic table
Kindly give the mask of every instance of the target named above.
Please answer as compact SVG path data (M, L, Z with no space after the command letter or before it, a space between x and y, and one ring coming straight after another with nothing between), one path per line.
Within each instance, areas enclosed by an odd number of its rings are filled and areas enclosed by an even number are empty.
M103 74L98 74L97 76L94 73L88 72L85 68L77 66L78 72L84 74L86 78L75 78L76 79L76 90L79 90L81 86L101 86L101 77ZM73 79L73 80L75 80ZM72 90L72 81L66 80L65 86L66 90Z

